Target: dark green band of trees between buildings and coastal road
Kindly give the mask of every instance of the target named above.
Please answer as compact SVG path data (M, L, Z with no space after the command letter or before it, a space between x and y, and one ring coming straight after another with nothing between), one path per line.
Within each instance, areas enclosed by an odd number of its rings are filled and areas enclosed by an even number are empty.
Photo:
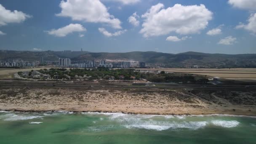
M170 73L164 71L141 72L135 69L41 69L38 72L57 77L58 79L87 79L87 80L147 80L154 83L207 83L205 76L194 74Z

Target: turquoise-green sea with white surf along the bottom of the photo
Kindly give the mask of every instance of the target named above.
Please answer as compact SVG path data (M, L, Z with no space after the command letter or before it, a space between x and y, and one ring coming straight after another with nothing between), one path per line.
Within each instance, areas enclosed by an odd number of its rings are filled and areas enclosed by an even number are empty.
M0 112L0 144L256 144L256 117Z

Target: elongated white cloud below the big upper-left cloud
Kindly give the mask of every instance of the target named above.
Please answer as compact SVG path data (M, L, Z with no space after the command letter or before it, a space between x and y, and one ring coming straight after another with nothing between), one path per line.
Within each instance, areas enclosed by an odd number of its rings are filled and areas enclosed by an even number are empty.
M72 32L84 32L86 29L81 24L69 24L59 29L51 29L46 31L49 35L55 35L56 37L65 37Z

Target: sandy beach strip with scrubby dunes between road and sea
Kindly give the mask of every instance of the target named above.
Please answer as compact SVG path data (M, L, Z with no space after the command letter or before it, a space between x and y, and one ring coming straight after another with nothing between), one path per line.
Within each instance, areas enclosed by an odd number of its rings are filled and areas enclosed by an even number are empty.
M123 88L1 88L0 109L256 116L256 92Z

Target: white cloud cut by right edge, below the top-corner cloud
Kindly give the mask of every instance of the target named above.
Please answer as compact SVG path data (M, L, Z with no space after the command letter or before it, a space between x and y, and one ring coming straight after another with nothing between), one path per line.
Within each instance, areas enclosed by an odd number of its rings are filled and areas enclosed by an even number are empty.
M256 13L251 14L248 19L248 24L240 23L236 26L237 29L246 29L254 34L256 34Z

